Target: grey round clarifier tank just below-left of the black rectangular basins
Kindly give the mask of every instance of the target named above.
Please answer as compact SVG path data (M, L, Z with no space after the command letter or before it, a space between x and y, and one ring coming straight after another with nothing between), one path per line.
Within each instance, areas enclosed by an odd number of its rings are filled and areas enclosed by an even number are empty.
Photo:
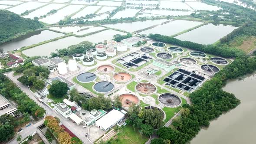
M181 98L177 95L165 93L159 96L159 101L168 107L177 107L181 105Z

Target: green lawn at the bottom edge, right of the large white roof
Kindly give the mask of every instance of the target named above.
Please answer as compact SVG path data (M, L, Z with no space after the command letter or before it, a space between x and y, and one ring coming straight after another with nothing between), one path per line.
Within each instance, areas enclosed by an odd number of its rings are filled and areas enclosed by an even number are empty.
M149 137L141 135L137 128L134 131L134 128L129 125L122 128L117 136L115 140L111 141L111 144L145 144L149 139Z

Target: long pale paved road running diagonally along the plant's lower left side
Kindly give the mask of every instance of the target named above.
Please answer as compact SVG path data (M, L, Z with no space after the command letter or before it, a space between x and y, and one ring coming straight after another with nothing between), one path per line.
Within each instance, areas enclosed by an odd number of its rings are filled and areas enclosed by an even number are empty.
M59 115L59 113L57 113L56 111L54 111L52 108L49 108L48 105L46 105L45 103L40 103L36 96L34 95L33 92L31 92L27 86L23 85L21 82L19 82L17 79L19 78L18 76L13 76L13 72L9 72L7 73L7 76L9 77L9 79L11 79L14 83L16 83L16 85L18 85L20 87L21 90L23 90L23 92L25 92L31 99L33 99L38 105L40 105L42 108L44 108L46 110L46 115L52 115L52 116L56 116L60 119L60 122L65 125L67 128L69 128L70 131L72 131L72 133L74 133L79 139L82 140L83 144L92 144L86 137L85 137L85 133L87 133L88 131L85 131L86 129L83 129L81 126L78 126L74 123L72 123L71 121L63 118L61 115ZM35 130L33 131L35 132ZM32 133L33 133L32 132ZM31 134L32 134L31 133ZM17 144L17 143L16 143Z

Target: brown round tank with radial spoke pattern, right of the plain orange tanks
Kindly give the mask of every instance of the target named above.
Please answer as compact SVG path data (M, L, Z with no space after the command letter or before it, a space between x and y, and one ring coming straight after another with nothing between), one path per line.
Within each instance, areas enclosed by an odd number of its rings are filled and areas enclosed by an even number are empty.
M136 90L142 94L151 94L157 90L157 88L148 82L142 82L136 85Z

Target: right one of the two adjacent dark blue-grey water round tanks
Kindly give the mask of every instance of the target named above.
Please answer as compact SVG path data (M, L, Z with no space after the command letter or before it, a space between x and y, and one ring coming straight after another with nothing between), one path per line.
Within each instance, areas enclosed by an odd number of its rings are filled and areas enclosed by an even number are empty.
M98 82L93 85L93 89L98 93L107 93L114 89L114 85L112 82Z

